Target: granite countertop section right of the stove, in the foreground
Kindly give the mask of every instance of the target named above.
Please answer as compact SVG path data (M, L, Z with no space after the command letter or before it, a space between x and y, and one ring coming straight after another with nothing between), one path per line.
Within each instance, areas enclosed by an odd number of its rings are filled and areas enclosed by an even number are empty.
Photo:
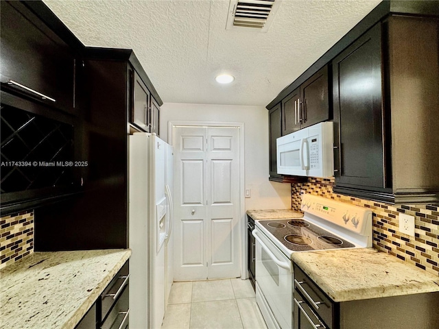
M439 291L439 277L377 249L294 252L291 256L335 302Z

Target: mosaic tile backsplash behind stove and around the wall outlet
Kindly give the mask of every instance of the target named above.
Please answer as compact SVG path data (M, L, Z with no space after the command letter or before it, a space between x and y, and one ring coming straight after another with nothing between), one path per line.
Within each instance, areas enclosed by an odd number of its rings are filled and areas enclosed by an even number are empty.
M439 275L439 207L391 205L333 193L334 179L309 178L292 184L292 208L300 210L302 193L370 208L373 221L373 246L420 269ZM399 214L415 217L415 236L399 232Z

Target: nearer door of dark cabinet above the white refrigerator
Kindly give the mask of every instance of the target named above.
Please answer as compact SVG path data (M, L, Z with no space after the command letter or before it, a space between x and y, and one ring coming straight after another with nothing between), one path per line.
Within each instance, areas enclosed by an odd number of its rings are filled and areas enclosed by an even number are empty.
M151 127L151 111L150 111L150 102L151 102L151 93L148 90L136 73L136 71L132 71L133 75L133 88L132 88L132 110L130 121L136 127L139 127L141 130L145 132L150 132Z

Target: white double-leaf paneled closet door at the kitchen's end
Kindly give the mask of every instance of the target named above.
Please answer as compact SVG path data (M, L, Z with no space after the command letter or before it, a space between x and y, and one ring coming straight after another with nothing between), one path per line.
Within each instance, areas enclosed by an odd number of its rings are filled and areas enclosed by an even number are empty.
M241 275L239 129L174 127L174 280Z

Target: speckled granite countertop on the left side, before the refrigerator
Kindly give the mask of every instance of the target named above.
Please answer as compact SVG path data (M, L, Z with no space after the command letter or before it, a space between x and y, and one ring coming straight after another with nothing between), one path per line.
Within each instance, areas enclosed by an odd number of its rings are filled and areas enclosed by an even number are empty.
M35 252L0 271L1 328L74 328L130 249Z

